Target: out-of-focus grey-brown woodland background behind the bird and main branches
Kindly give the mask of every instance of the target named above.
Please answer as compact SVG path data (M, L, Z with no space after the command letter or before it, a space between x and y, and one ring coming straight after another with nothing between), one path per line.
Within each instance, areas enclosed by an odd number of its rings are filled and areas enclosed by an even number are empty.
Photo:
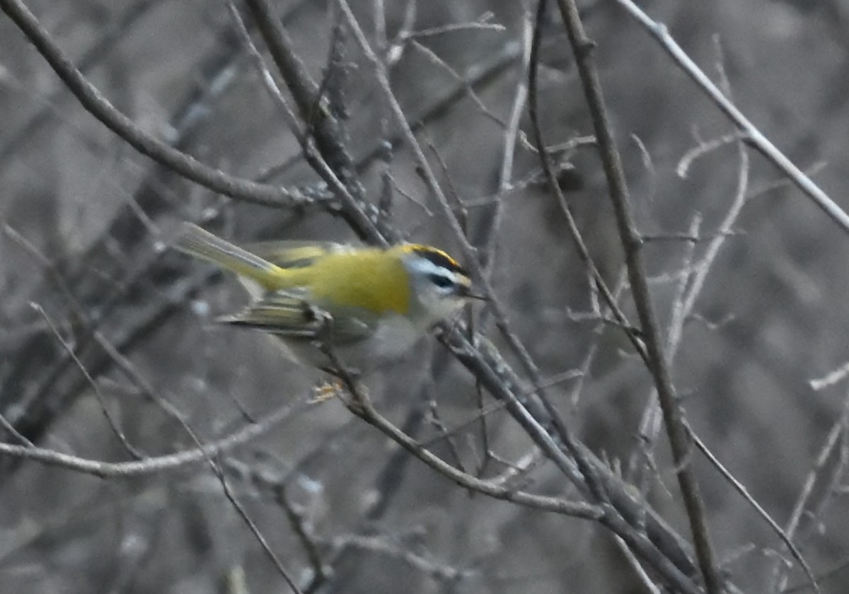
M849 237L773 165L740 148L728 120L616 2L580 4L598 44L664 328L675 327L681 283L692 288L706 272L673 359L689 423L783 526L810 481L796 542L814 573L841 568L849 564L846 383L812 380L849 361ZM318 184L226 3L27 5L144 131L233 175ZM335 11L323 2L275 5L320 81ZM592 315L587 273L523 140L532 137L526 108L510 143L514 159L505 161L511 109L526 81L525 23L536 3L351 5L369 40L391 56L396 97L443 187L463 205L469 241L486 256L511 327L543 378L584 372L554 385L552 400L581 439L632 473L689 538L665 434L652 464L639 453L651 378L621 332ZM593 129L552 8L538 102L545 140L555 145ZM849 208L846 4L656 0L644 8L714 81L724 72L735 104ZM382 200L403 238L459 253L408 146L397 142L371 67L350 39L346 48L346 126L368 194ZM355 241L342 218L320 207L233 201L155 165L88 115L5 15L0 114L0 413L21 434L115 462L132 458L104 406L133 449L157 456L194 446L157 402L170 403L206 441L311 397L320 373L284 360L260 333L212 322L244 303L238 283L168 245L187 220L245 241ZM387 143L395 144L386 150ZM595 148L576 144L555 154L559 183L602 275L616 286L622 257L604 174ZM739 216L729 219L740 196ZM621 303L634 318L627 288ZM489 313L478 307L474 316L502 346ZM367 383L382 413L473 474L497 477L510 468L504 462L532 451L504 412L440 439L442 428L492 401L433 339ZM645 591L599 525L471 495L338 401L296 407L261 439L229 451L222 467L233 496L310 591ZM770 588L788 558L780 541L702 457L694 468L722 569L741 588L779 591ZM524 479L534 492L576 496L545 462ZM829 574L824 591L845 591L846 575ZM784 587L802 581L794 564ZM11 457L0 459L0 585L287 591L204 463L98 479Z

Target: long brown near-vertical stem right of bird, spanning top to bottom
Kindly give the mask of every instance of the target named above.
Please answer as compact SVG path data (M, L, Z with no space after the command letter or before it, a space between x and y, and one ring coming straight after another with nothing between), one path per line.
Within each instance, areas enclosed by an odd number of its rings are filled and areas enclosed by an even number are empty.
M643 328L646 350L648 350L649 355L649 367L655 378L655 385L661 402L666 434L672 447L672 458L675 462L678 485L683 496L684 507L687 510L690 530L693 533L696 556L699 559L706 590L709 594L717 594L722 591L722 580L711 546L699 485L696 482L693 468L689 464L692 442L684 427L683 412L678 404L675 387L672 384L672 376L663 352L661 328L651 301L649 283L645 273L642 242L637 229L634 227L625 173L622 171L621 159L613 139L599 81L599 73L595 68L592 54L593 42L584 32L574 0L557 0L557 3L572 51L575 53L578 74L581 76L584 95L593 120L599 154L604 165L604 175L607 178L610 199L616 214L616 224L619 227L622 248L625 251L628 279L631 282L634 303Z

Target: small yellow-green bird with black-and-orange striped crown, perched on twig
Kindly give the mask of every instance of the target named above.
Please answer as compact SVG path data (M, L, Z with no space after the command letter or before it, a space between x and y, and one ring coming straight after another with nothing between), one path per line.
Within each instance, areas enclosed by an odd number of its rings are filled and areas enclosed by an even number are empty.
M250 305L220 322L272 333L291 358L313 367L328 367L319 345L329 337L346 367L374 368L401 356L467 300L480 299L469 273L428 245L271 241L240 247L184 223L175 247L236 273L250 293Z

